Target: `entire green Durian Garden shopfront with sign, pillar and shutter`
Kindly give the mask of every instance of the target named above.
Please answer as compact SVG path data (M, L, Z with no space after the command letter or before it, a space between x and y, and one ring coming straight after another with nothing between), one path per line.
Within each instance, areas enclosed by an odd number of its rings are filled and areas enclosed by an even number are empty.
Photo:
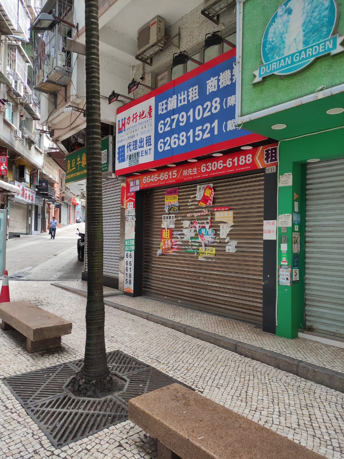
M343 339L344 5L239 0L237 24L236 123L278 141L276 335Z

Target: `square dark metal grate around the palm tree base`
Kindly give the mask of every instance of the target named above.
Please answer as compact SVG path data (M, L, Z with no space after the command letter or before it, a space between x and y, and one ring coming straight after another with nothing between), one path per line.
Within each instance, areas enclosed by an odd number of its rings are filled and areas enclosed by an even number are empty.
M83 359L9 376L2 381L55 448L88 437L128 419L128 400L179 382L120 351L107 353L112 374L125 381L114 395L75 397L66 389Z

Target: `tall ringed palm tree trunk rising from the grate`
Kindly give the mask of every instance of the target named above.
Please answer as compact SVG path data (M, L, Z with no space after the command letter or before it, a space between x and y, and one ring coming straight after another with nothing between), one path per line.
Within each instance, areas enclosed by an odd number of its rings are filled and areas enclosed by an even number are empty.
M71 380L75 395L103 397L115 390L106 361L103 299L103 202L99 90L98 0L85 0L87 146L87 305L84 364Z

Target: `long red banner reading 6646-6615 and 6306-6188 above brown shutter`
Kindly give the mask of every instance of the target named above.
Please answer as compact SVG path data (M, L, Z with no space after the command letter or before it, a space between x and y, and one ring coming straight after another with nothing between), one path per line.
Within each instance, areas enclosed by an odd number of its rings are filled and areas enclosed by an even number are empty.
M135 181L136 190L144 190L161 185L207 179L225 174L250 171L277 165L277 144L260 146L252 150L238 151L221 157L205 159L191 164L183 164L175 168L162 169L148 174L134 175L126 179L129 193ZM139 181L139 183L138 183Z

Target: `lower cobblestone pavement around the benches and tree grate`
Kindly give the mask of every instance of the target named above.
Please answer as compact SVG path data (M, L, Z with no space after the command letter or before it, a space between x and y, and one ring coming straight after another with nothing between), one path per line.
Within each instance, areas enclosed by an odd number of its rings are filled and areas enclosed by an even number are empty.
M60 350L28 354L24 337L0 330L1 375L83 357L84 297L35 281L10 281L10 293L71 320L73 331ZM114 308L106 307L105 324L108 351L120 349L326 458L344 457L343 393ZM130 421L55 450L2 382L0 451L1 458L155 458L152 439Z

